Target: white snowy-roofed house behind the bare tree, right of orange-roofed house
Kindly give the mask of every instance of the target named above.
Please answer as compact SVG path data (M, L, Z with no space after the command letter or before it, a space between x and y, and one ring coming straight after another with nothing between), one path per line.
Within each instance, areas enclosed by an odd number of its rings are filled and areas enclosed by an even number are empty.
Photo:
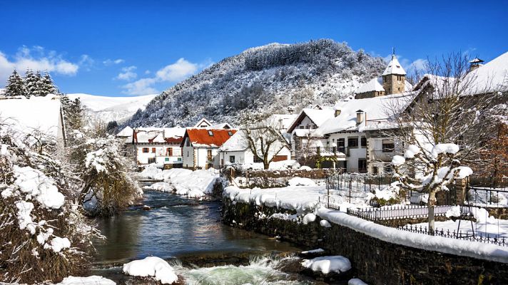
M243 130L239 130L219 147L219 158L221 167L233 163L251 164L262 162L258 157L255 157L252 150L248 147L248 142ZM273 159L273 162L290 160L291 150L283 142L274 142L268 152L268 159Z

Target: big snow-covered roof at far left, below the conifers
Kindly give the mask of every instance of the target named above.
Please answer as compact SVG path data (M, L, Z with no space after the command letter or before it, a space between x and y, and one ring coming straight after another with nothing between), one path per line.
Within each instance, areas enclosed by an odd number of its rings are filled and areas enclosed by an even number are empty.
M32 96L0 100L0 122L10 123L23 133L41 133L61 138L61 113L58 96Z

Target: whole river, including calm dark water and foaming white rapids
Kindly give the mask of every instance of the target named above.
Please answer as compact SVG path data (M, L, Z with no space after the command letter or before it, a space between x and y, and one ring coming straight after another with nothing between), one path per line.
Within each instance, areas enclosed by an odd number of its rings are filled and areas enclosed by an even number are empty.
M121 264L156 256L172 264L186 284L314 284L278 270L281 260L290 259L285 253L303 249L222 224L219 202L147 191L143 203L151 209L131 207L98 220L106 239L95 242L93 274L135 284L121 274Z

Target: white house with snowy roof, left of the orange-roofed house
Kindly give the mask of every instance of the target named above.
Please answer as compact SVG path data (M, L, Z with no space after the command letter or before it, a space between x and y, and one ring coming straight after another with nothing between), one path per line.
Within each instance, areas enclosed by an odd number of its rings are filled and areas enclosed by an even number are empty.
M134 129L131 143L137 164L182 167L181 142L185 132L179 127Z

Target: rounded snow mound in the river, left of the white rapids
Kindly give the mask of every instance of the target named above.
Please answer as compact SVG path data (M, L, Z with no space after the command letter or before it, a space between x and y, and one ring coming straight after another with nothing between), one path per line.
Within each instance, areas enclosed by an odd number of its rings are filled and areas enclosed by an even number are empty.
M151 276L162 284L173 284L178 281L173 267L159 257L146 257L123 264L123 273L139 277Z

